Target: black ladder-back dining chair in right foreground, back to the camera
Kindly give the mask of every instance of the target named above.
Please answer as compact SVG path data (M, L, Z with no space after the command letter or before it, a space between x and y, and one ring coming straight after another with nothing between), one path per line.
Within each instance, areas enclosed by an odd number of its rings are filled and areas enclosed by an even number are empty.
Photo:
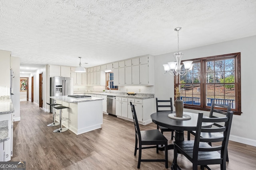
M221 170L226 170L226 155L228 149L228 139L232 123L233 112L230 111L226 117L203 117L203 113L198 113L198 122L196 127L196 136L194 141L174 141L174 170L180 169L177 163L178 153L183 154L193 164L193 170L197 170L200 165L201 170L206 167L210 170L210 164L220 164ZM202 127L202 123L224 123L222 127L207 128ZM201 132L204 133L223 133L220 137L200 137ZM208 143L216 143L214 147Z

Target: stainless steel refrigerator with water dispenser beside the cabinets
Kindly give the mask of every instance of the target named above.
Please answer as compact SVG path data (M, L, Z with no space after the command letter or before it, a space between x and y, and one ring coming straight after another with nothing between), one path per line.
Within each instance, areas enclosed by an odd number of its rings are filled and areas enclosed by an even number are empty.
M72 77L51 77L50 78L50 96L68 96L73 94L73 78ZM50 104L56 101L50 99ZM52 107L50 107L52 113Z

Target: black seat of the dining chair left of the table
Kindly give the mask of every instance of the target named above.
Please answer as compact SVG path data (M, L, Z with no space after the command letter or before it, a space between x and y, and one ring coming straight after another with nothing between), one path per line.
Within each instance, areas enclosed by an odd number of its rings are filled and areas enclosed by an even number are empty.
M158 131L158 129L140 131L140 134L142 145L154 145L154 142L160 144L160 142L165 143L166 141L168 141L168 139L166 139L166 137L164 137L164 135L160 131Z

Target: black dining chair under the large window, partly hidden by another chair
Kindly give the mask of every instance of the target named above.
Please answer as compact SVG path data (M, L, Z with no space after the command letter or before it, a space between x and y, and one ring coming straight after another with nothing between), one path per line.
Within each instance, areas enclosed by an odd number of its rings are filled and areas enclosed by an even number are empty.
M231 111L231 104L232 103L228 103L228 105L224 105L224 104L216 104L214 100L212 100L212 105L211 105L211 109L210 109L210 115L209 117L215 117L215 118L218 118L217 113L220 113L222 115L227 115L227 113L229 111ZM218 108L218 109L217 109ZM222 110L220 110L222 109ZM226 109L224 111L224 109ZM217 127L222 127L222 125L218 124L218 123L214 123L213 124L214 126L217 126ZM188 131L188 141L190 141L190 134L192 135L196 135L196 132L195 131ZM201 137L204 137L204 138L208 138L208 137L220 137L220 136L223 136L222 133L201 133ZM209 143L209 145L212 145L211 143ZM226 158L226 161L228 162L229 159L228 159L228 151L227 151L227 158Z

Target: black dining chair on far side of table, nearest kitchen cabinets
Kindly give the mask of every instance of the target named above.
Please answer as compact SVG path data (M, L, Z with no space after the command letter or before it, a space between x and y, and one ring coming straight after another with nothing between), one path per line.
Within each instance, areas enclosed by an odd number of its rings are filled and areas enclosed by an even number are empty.
M162 107L169 108L169 109L160 109ZM172 109L172 98L170 98L170 100L158 100L158 98L156 98L156 112L160 112L160 111L173 111L173 109ZM173 140L174 129L169 129L167 127L163 127L163 126L160 126L160 125L157 125L156 128L160 129L162 134L164 134L164 132L172 132L171 139Z

